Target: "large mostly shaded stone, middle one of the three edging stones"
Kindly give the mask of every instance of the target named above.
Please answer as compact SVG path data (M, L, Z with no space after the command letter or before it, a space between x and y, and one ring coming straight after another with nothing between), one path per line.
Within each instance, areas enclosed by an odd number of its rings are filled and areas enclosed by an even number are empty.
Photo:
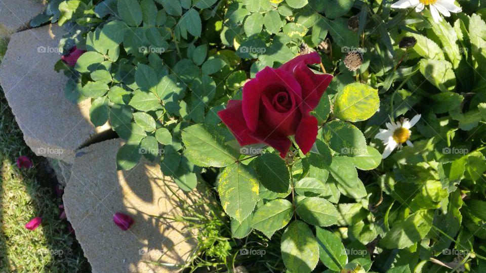
M65 98L67 78L54 70L62 35L55 25L13 34L0 66L0 84L32 151L70 163L77 148L109 126L91 124L90 100L74 105Z

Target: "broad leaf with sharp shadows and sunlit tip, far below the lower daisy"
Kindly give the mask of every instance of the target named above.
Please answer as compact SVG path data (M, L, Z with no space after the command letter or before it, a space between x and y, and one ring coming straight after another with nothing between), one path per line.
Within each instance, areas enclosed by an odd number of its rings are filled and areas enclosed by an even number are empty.
M424 239L432 227L433 210L420 210L394 224L380 245L385 248L406 248Z

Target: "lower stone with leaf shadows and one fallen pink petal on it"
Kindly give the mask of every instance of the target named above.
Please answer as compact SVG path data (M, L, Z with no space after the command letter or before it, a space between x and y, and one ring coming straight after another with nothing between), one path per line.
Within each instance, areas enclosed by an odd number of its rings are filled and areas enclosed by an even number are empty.
M195 231L152 215L190 215L180 208L209 196L207 189L201 186L189 194L182 192L170 177L164 177L157 160L143 159L131 170L117 171L116 153L121 145L118 139L97 143L80 150L74 160L63 200L76 239L93 272L179 271L167 264L186 262L196 246ZM199 206L194 207L208 213ZM129 231L113 223L116 212L134 219ZM150 264L153 261L166 266Z

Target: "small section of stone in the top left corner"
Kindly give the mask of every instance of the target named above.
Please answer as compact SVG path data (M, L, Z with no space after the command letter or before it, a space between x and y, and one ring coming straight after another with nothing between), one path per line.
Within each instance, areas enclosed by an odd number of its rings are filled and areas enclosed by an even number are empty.
M30 20L44 11L46 4L39 0L0 1L0 38L26 29Z

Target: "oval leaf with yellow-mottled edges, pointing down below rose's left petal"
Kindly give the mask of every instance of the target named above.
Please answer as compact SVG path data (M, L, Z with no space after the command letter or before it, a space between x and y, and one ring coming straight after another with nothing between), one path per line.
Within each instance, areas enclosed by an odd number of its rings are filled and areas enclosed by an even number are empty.
M259 200L258 192L259 185L252 168L235 163L221 172L218 184L221 205L238 222L241 223L253 212Z

